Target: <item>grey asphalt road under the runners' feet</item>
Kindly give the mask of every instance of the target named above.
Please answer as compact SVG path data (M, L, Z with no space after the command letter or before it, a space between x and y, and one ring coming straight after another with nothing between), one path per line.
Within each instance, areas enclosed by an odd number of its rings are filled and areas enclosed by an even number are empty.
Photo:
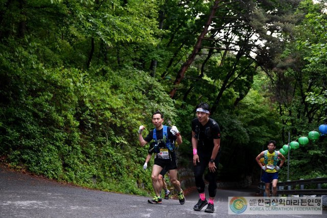
M204 209L193 210L198 201L197 193L186 195L184 205L173 199L163 199L161 205L153 205L147 203L148 197L75 187L0 167L0 217L235 217L228 215L228 196L246 197L251 193L218 189L216 211L205 213ZM283 215L287 216L292 215ZM327 217L327 211L323 211L321 216Z

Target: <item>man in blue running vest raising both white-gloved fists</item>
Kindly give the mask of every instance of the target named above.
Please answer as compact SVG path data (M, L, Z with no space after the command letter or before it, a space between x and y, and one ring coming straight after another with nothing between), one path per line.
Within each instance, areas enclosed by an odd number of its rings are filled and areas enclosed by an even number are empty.
M153 199L148 200L148 202L151 204L162 203L159 194L162 186L158 181L158 176L161 170L166 168L169 170L170 182L177 190L179 203L184 204L185 197L183 190L180 188L180 183L177 180L177 162L174 149L174 141L176 140L178 144L181 144L182 138L176 126L164 126L162 125L163 122L164 115L162 115L161 112L155 112L152 115L152 123L155 128L150 131L145 139L142 136L142 131L145 129L145 126L141 125L138 129L138 140L142 147L152 140L156 142L153 144L153 147L151 147L152 145L150 146L150 149L153 149L157 154L154 159L151 175L152 186L156 195Z

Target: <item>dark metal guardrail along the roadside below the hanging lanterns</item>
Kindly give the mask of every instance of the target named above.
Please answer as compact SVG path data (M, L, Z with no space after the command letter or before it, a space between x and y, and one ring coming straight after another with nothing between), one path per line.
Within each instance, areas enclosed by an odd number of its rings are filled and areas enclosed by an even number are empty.
M300 179L287 182L278 182L277 183L277 194L299 194L301 195L327 195L327 189L322 189L321 184L327 183L327 178L315 178L315 179ZM316 189L305 189L305 185L317 184ZM292 189L292 187L299 185L300 189ZM287 190L284 190L286 186ZM258 189L260 192L265 194L265 183L260 182ZM270 190L271 192L271 190Z

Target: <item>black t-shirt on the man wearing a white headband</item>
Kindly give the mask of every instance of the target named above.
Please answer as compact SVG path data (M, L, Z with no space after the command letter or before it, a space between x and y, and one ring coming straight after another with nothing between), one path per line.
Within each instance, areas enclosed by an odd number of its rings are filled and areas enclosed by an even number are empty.
M214 139L220 139L220 128L218 123L209 118L203 126L198 118L192 120L192 131L195 132L195 138L198 140L198 152L211 152L214 149Z

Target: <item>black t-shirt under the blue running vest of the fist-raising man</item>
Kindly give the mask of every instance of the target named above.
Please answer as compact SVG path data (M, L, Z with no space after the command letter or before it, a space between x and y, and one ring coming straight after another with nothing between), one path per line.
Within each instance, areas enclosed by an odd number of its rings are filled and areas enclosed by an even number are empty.
M167 137L168 140L171 142L172 145L174 145L175 141L176 141L176 136L174 136L171 132L170 132L171 127L167 126ZM158 142L158 147L159 149L167 149L166 143L162 137L164 132L164 128L160 129L160 130L156 130L156 136L157 136L157 142ZM153 140L153 129L150 131L150 133L145 137L144 139L147 142L151 142ZM149 154L153 154L155 142L152 142L150 144L149 147ZM168 155L169 155L169 159L175 159L176 158L176 154L175 154L175 150L171 151L168 149ZM160 155L157 155L157 158L161 158Z

